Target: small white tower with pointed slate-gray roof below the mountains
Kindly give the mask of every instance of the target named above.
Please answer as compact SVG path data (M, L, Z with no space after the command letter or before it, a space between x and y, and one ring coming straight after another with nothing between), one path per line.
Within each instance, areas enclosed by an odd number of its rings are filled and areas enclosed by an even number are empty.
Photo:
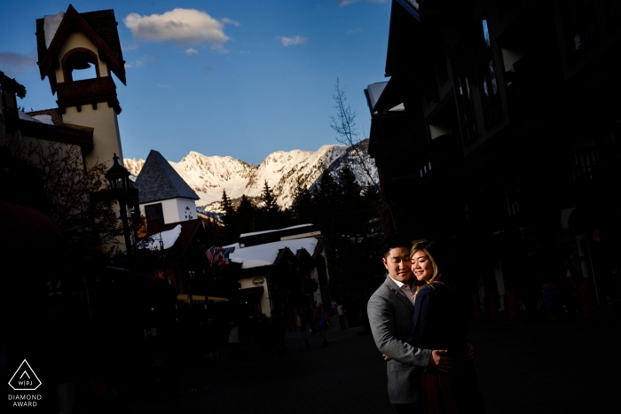
M160 152L149 152L134 185L140 191L140 213L147 226L158 228L198 218L196 200L200 197Z

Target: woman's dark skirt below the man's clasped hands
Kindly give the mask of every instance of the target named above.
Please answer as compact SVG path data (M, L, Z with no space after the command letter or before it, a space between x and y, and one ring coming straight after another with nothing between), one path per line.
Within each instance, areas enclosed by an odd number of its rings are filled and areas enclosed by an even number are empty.
M455 363L453 370L421 373L421 397L425 414L483 414L483 399L472 363Z

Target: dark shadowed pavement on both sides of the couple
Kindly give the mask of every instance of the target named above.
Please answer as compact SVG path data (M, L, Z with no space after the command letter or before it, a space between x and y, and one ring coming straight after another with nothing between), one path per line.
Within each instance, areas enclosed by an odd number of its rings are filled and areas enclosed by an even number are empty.
M134 403L131 414L158 413L392 413L386 371L370 335L341 331L333 320L328 348L263 359L247 348L251 363L224 361L184 371L182 394ZM476 370L489 413L619 412L621 324L612 318L562 324L475 324ZM209 387L210 386L210 387Z

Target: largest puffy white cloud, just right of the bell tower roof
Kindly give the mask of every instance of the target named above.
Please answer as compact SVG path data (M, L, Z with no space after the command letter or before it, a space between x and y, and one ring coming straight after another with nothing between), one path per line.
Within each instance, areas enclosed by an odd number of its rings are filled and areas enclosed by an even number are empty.
M221 22L195 9L174 9L151 16L130 13L123 23L135 39L143 42L173 42L182 46L209 43L219 48L229 40Z

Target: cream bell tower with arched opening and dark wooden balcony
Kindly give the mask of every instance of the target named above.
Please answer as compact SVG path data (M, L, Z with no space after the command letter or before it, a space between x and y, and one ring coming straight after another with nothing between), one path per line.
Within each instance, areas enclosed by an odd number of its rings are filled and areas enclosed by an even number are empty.
M114 73L126 84L117 24L113 10L79 13L71 4L67 12L36 20L37 65L57 94L63 122L94 129L93 149L84 154L87 168L111 166L114 153L122 159L121 105L112 78Z

